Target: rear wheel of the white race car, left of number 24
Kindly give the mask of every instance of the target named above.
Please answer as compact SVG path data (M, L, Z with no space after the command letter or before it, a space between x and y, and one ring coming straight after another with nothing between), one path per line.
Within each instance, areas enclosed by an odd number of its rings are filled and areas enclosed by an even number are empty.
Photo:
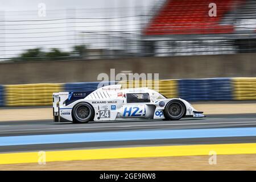
M88 123L94 118L94 109L87 102L80 102L72 109L73 123Z

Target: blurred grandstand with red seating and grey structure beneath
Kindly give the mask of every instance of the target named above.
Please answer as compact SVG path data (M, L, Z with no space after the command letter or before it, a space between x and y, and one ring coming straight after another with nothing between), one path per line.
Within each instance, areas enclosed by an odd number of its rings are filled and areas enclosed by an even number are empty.
M212 55L256 52L256 2L166 0L143 29L151 56ZM147 53L150 51L147 51Z

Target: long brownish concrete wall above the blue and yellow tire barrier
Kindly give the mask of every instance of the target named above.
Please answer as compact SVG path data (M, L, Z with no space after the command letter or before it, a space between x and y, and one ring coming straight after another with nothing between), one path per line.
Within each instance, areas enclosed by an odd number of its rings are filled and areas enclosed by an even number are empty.
M0 84L97 81L99 73L159 73L159 79L256 77L256 53L1 63Z

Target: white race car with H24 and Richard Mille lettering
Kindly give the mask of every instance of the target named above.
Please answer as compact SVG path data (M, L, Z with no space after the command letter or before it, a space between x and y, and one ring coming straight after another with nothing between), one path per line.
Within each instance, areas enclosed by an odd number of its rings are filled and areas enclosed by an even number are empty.
M118 121L129 119L168 119L204 117L181 98L166 98L148 88L121 89L109 85L88 92L53 93L55 122Z

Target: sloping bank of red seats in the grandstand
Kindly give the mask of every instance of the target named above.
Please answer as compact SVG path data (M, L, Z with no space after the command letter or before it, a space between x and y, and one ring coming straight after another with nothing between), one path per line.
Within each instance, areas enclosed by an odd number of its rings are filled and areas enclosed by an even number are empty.
M168 0L144 30L145 35L225 34L232 25L220 25L225 13L244 0L215 0L217 16L210 17L212 0Z

